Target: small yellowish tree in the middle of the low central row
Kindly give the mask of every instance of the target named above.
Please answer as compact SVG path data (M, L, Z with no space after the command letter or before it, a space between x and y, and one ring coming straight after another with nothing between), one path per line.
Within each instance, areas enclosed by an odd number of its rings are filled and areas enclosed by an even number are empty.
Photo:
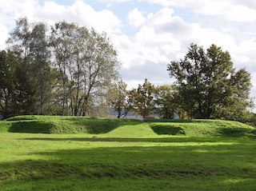
M143 85L138 85L138 89L130 91L130 96L133 98L134 113L146 117L154 111L154 85L145 79Z

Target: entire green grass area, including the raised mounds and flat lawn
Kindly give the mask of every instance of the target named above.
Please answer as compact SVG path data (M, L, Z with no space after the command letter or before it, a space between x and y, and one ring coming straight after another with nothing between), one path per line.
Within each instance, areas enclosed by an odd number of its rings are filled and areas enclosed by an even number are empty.
M234 121L27 116L0 132L4 191L256 190L254 128Z

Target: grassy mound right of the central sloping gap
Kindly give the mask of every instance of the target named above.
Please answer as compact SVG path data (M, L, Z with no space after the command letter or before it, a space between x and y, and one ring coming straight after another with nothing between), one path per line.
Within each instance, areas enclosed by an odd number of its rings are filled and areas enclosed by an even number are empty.
M186 135L190 137L246 136L255 128L238 121L222 120L147 120L158 134Z

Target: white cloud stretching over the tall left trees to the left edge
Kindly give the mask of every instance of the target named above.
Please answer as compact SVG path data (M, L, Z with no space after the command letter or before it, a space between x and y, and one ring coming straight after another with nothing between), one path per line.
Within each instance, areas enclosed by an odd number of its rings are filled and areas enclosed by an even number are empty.
M15 19L26 16L29 22L44 21L50 25L65 20L77 22L81 26L94 27L99 32L108 34L120 33L121 20L110 10L96 11L81 0L75 1L71 6L63 6L57 2L46 1L39 5L35 0L0 0L0 46L6 41L9 30L14 27Z

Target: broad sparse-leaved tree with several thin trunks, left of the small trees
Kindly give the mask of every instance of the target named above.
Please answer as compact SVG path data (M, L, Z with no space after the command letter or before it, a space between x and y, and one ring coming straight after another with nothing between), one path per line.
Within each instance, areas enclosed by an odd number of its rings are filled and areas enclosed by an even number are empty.
M102 105L102 95L118 79L120 62L110 38L94 29L59 22L52 27L51 41L55 66L62 73L62 113L70 106L72 115L86 115L90 106Z

